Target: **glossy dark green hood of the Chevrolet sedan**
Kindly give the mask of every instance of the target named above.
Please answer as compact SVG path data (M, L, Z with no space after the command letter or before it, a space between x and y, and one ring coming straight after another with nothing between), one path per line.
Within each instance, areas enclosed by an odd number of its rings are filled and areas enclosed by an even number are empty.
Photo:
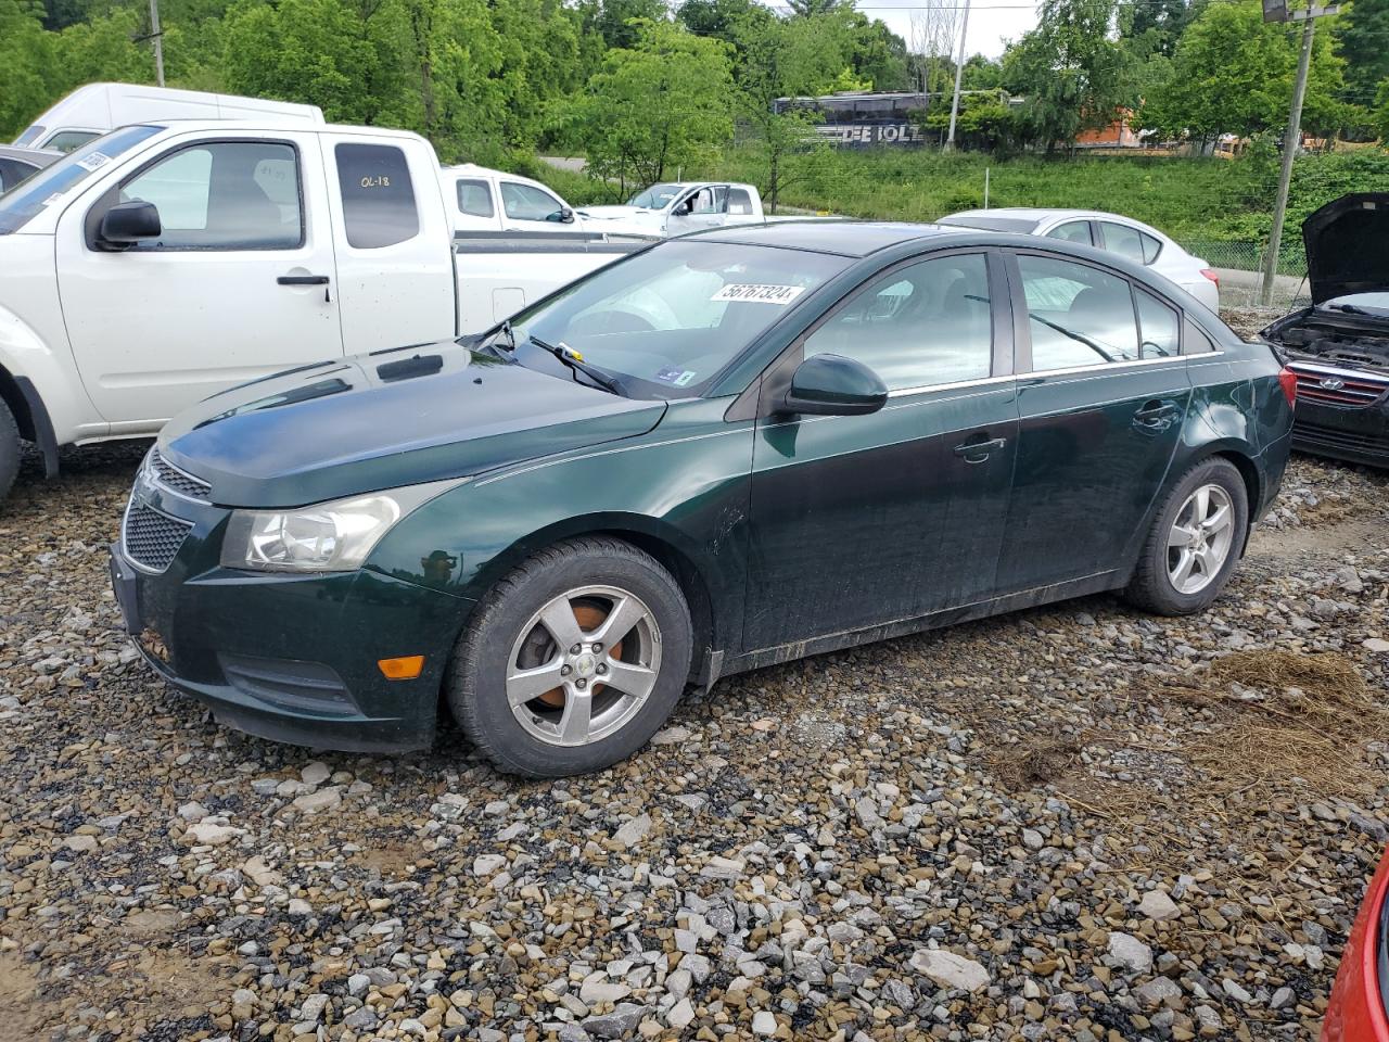
M664 413L444 342L232 388L171 420L158 445L215 503L290 507L632 438Z

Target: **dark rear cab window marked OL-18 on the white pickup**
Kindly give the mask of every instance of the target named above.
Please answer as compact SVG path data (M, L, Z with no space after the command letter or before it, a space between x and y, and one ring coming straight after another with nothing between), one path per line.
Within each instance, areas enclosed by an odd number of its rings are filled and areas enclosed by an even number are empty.
M376 250L419 235L404 151L393 144L338 144L333 156L349 246Z

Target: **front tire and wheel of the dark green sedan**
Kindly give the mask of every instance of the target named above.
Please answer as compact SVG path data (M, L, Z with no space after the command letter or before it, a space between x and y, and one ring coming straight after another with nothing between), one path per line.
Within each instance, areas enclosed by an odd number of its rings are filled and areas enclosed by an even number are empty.
M597 646L608 620L617 642ZM578 643L565 649L556 632ZM618 539L572 539L488 592L458 638L444 690L454 720L499 771L563 778L646 745L685 689L692 645L689 607L654 557Z

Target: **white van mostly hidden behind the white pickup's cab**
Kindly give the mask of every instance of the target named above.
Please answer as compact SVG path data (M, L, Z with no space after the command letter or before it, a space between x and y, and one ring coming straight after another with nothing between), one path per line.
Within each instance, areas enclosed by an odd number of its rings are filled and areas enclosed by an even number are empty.
M15 138L31 149L72 151L107 131L150 119L261 119L324 122L318 106L264 97L176 90L147 83L88 83L35 118Z

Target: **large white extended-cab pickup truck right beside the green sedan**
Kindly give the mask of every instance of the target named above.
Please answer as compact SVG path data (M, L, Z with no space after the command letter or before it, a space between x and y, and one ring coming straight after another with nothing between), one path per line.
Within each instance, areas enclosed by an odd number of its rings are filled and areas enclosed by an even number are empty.
M454 235L431 144L358 126L174 121L0 196L0 497L19 439L151 435L294 365L479 332L646 246Z

